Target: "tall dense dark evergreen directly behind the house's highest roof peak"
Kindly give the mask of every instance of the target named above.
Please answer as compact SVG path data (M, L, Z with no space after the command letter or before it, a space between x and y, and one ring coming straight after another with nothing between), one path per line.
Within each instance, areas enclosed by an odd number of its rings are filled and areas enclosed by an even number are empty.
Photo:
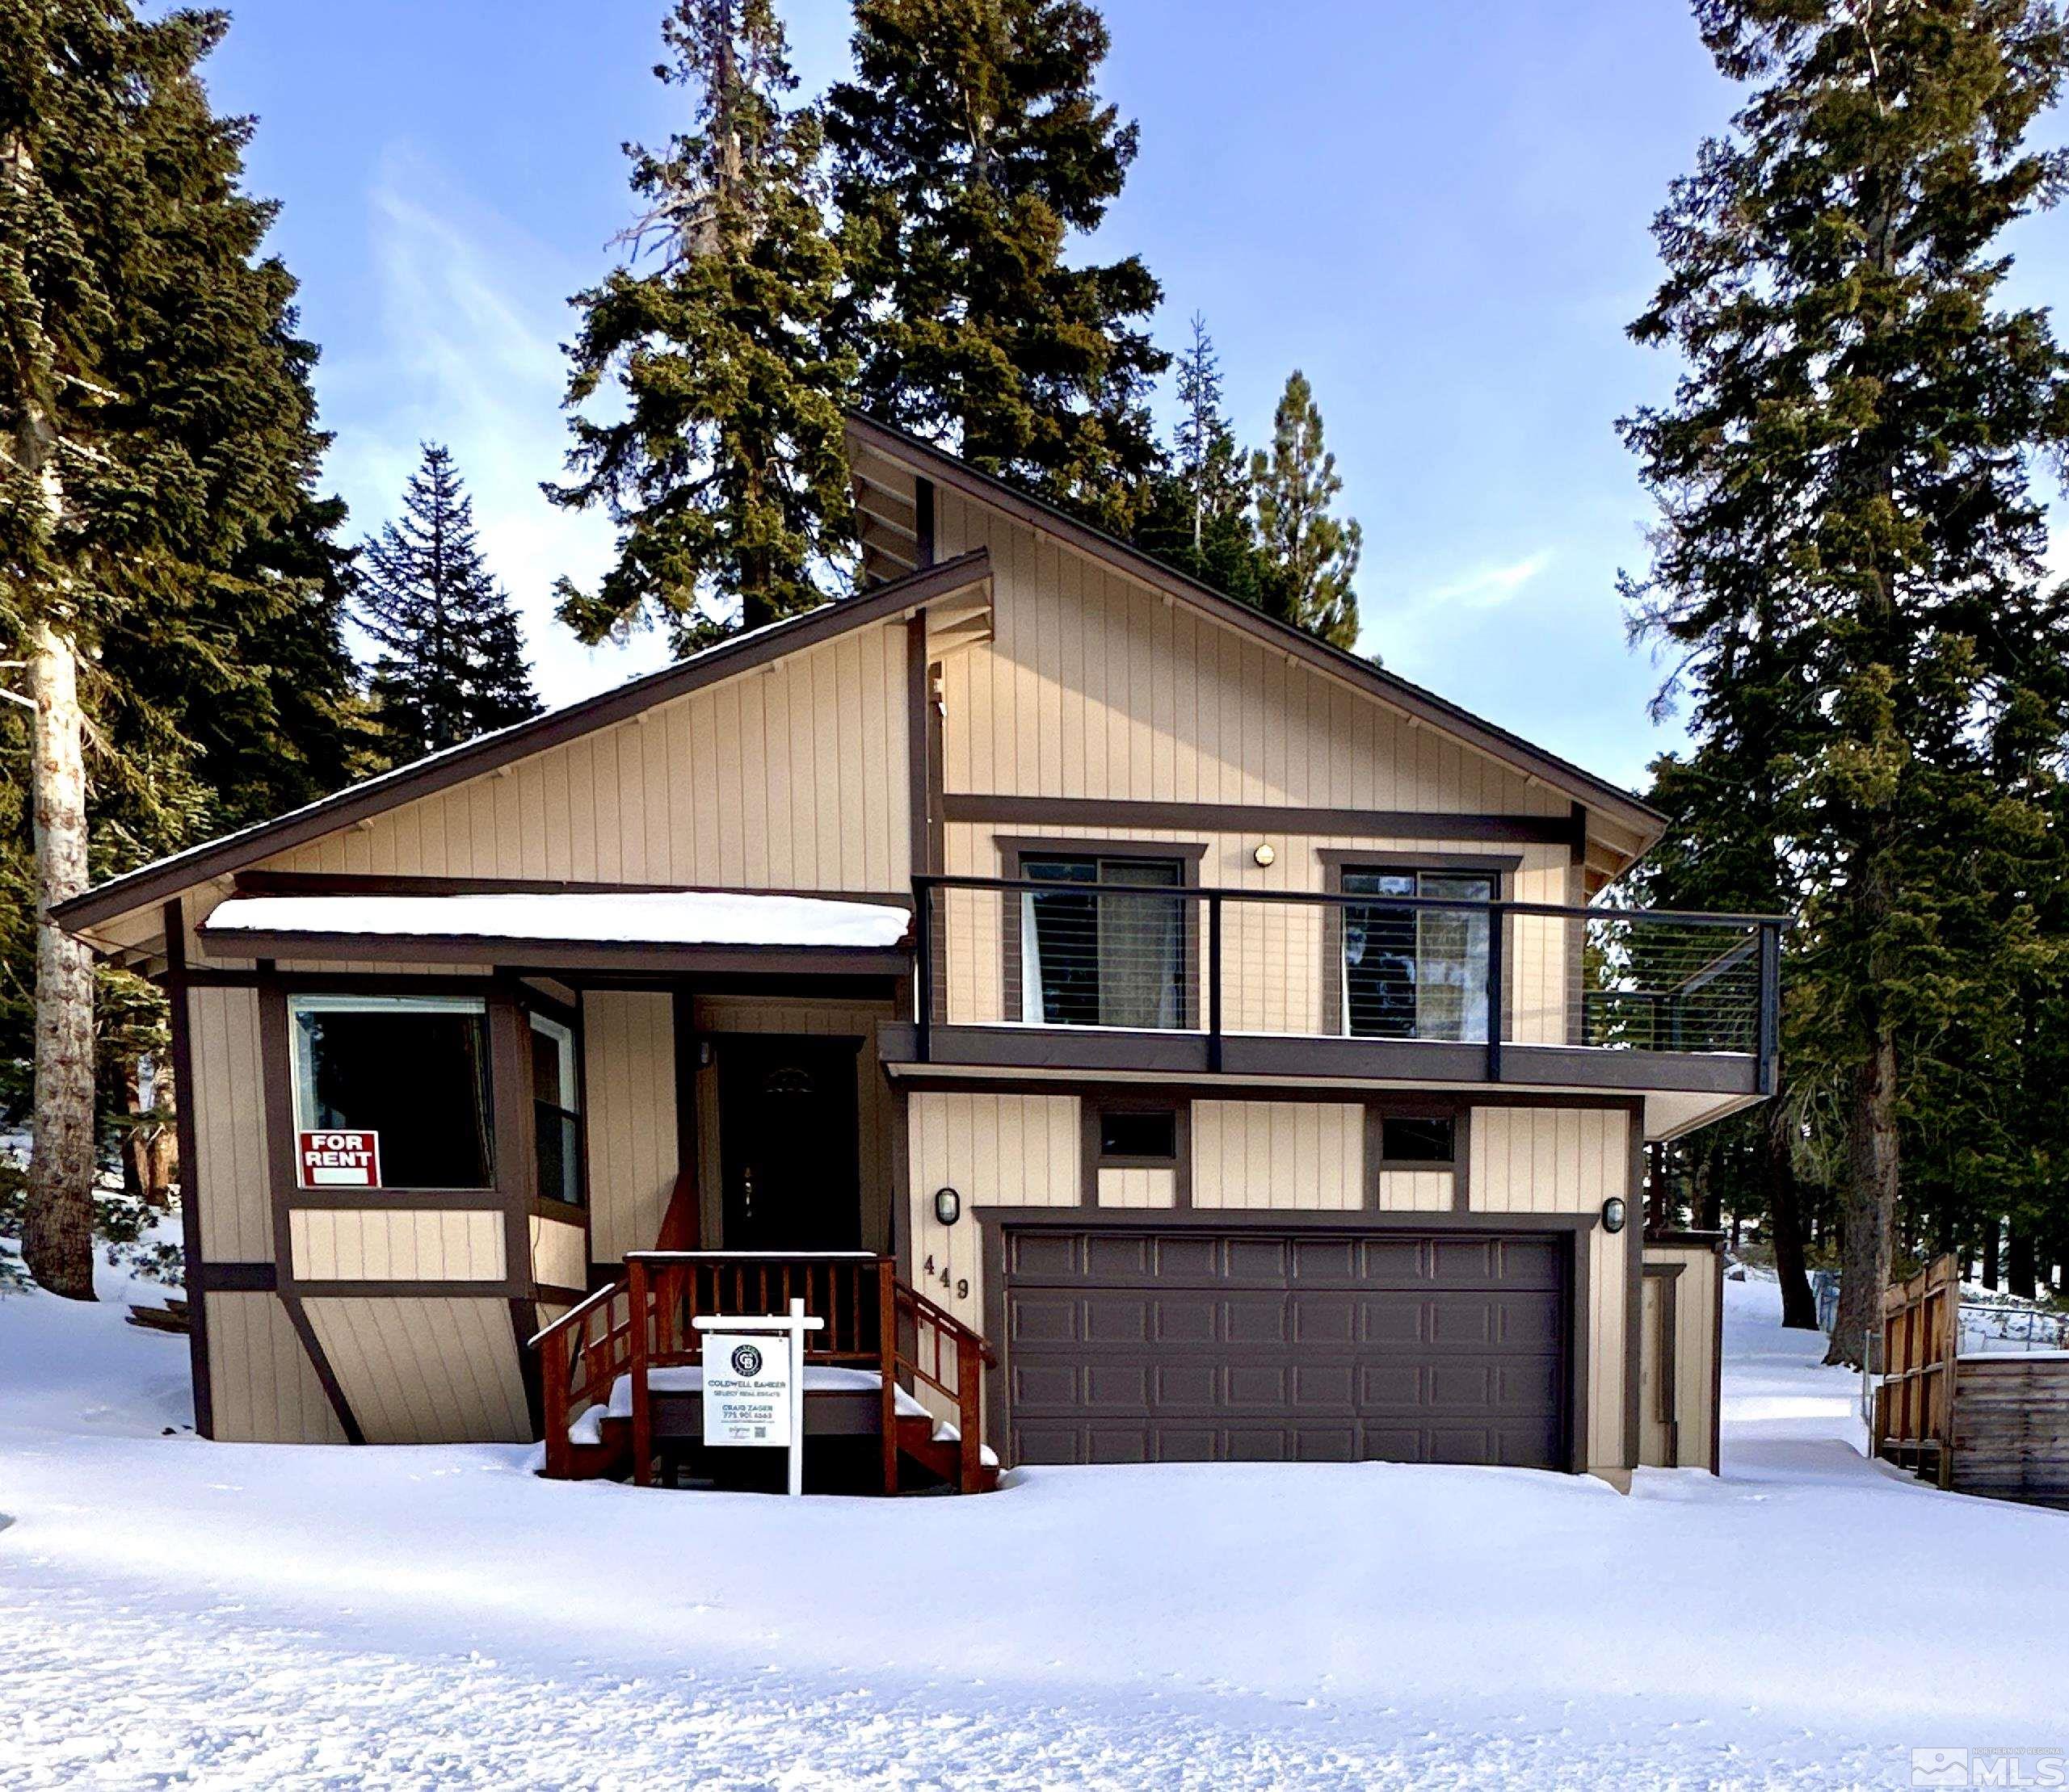
M1126 536L1169 358L1138 257L1066 263L1136 157L1107 46L1084 0L857 0L828 141L861 406Z

